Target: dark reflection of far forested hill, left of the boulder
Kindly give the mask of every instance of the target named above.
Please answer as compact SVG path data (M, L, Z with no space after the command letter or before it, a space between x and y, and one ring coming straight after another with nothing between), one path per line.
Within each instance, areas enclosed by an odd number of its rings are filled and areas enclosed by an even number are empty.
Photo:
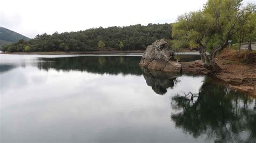
M79 70L97 74L142 75L139 56L76 56L66 58L41 58L39 69Z

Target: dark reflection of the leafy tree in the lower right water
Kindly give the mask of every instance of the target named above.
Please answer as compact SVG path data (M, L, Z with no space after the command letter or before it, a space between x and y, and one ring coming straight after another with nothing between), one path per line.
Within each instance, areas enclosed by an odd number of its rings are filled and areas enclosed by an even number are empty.
M192 93L172 97L172 108L178 111L171 115L176 126L193 137L205 134L215 141L255 140L256 114L248 106L252 97L206 81L198 97Z

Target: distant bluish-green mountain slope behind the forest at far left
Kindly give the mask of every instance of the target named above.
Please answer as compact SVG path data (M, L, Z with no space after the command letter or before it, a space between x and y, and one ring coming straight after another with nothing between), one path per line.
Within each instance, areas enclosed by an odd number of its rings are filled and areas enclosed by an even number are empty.
M30 38L0 26L0 47L17 42L19 39L29 40Z

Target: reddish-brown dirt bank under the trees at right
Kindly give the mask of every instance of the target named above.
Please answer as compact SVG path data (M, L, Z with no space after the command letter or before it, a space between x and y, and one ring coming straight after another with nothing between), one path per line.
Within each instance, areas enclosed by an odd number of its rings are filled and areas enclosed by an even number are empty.
M224 49L216 58L221 68L215 76L220 80L230 83L232 88L256 96L256 52L241 52L240 59L237 52ZM181 62L184 73L209 74L210 71L201 66L201 61Z

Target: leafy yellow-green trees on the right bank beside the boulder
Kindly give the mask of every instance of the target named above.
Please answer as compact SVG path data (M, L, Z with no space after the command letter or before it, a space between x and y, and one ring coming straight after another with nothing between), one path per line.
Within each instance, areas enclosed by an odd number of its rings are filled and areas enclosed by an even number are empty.
M242 42L243 39L251 43L256 39L256 6L247 4L242 7L241 2L208 0L202 10L179 16L177 23L173 24L172 47L198 48L204 67L212 73L219 72L221 69L215 56L227 47L229 40Z

